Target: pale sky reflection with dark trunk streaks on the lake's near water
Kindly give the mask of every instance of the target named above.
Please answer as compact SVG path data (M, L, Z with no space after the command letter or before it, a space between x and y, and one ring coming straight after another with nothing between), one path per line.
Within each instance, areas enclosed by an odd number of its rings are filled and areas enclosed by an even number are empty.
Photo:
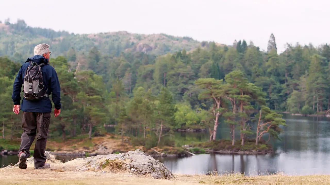
M314 153L281 153L269 155L220 155L199 154L186 158L157 158L173 173L206 174L218 172L241 172L247 176L284 172L290 175L330 174L329 157Z

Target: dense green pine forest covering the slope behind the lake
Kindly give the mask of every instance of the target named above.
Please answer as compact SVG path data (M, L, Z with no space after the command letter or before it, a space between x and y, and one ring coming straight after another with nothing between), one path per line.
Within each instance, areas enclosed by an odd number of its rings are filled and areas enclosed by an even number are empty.
M68 33L61 34L56 37L65 38ZM41 42L35 40L30 46ZM51 44L50 51L60 49L62 43ZM115 43L124 44L119 40ZM74 41L72 44L79 46ZM214 42L205 45L189 53L182 47L173 54L156 56L140 51L116 55L92 44L84 45L88 52L79 53L70 46L63 56L51 56L61 84L63 107L59 119L52 119L50 136L65 139L88 133L92 137L104 130L104 124L113 124L122 135L142 137L143 145L172 145L168 143L172 140L162 139L171 136L164 131L210 128L210 139L215 139L212 130L219 123L230 127L233 142L235 130L239 131L243 145L244 138L251 135L260 139L268 132L277 138L279 125L284 122L274 110L321 114L329 109L327 44L287 44L286 50L278 53L272 34L266 52L245 40L235 40L233 46ZM2 88L1 101L10 107L19 65L4 57L0 65L7 67L0 71L0 83L7 87ZM2 107L4 133L15 133L19 118L10 113L10 108ZM251 122L256 129L249 126Z

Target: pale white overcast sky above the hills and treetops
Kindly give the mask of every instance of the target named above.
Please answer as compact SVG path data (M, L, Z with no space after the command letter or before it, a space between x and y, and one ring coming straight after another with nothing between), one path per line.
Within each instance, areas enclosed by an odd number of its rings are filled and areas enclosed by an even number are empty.
M231 45L253 41L278 51L286 42L329 42L327 0L0 0L0 20L17 18L32 27L70 33L128 31L188 36Z

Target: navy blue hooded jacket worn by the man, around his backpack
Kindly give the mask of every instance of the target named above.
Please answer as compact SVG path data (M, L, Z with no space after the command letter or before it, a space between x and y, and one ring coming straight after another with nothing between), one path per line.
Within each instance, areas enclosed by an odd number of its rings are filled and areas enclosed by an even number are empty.
M30 66L30 61L37 63L38 65L42 62L49 63L49 60L41 55L35 55L33 57L30 57L26 60L26 63L24 63L21 68L19 69L15 82L14 82L14 88L13 88L13 101L14 105L20 104L20 94L22 91L22 85L24 80L24 75L26 68ZM41 66L41 72L43 76L43 85L44 90L48 91L47 94L51 94L51 98L54 102L54 106L56 109L61 109L61 89L60 84L58 82L58 77L55 69L50 65L44 65ZM49 97L42 97L38 101L28 101L23 98L22 105L20 106L20 110L24 112L38 112L38 113L48 113L51 112L51 101Z

